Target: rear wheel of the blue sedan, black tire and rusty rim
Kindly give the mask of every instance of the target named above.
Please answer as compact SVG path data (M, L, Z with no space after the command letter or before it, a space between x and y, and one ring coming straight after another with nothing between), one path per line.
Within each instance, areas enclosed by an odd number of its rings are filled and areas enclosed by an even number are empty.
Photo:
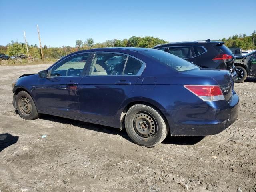
M125 129L138 145L154 147L161 143L169 132L169 127L160 113L154 108L136 104L125 116Z

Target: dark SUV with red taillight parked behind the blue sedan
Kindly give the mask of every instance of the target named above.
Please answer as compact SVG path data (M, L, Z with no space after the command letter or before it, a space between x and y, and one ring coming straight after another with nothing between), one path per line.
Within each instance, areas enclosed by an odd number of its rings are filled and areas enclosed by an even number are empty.
M203 68L230 70L233 76L234 55L222 41L174 42L154 46L154 49L166 51L188 60Z

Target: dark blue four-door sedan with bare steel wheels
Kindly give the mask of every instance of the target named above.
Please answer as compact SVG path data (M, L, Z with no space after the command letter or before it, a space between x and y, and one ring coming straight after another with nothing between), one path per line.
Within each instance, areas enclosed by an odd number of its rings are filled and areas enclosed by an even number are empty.
M218 134L238 116L228 70L199 68L156 49L75 52L38 74L20 76L12 87L13 106L26 120L50 114L125 128L147 147L168 134Z

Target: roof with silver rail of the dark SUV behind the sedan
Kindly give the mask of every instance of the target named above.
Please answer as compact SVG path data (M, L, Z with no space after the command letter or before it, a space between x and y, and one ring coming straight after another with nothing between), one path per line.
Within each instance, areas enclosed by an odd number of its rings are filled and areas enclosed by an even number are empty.
M154 48L166 47L166 46L185 46L185 45L202 45L202 44L224 44L223 41L211 41L210 39L202 41L181 41L181 42L170 42L154 46Z

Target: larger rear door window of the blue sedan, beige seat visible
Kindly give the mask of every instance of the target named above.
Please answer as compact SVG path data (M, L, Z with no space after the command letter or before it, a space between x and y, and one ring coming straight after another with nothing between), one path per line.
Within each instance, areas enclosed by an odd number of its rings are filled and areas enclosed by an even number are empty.
M127 56L116 53L96 53L90 75L122 75Z

